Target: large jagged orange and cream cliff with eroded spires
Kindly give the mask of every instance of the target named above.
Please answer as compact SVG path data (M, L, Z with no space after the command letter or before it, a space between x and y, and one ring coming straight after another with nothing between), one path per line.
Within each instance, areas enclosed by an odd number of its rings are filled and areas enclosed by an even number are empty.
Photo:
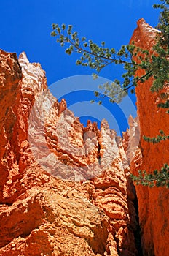
M128 138L83 127L25 53L0 51L0 89L0 255L138 255Z

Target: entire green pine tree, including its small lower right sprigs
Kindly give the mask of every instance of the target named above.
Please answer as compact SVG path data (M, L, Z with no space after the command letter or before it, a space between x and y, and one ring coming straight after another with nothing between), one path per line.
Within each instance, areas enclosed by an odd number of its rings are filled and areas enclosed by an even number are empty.
M151 87L152 93L160 91L169 83L169 0L160 0L161 4L154 4L154 8L160 8L160 18L157 25L159 33L157 34L157 43L154 45L154 53L148 50L135 47L134 42L130 45L122 45L119 50L114 48L106 48L105 42L97 45L92 40L87 41L85 37L79 38L77 32L72 31L72 26L62 24L52 24L53 37L57 37L57 42L61 46L68 45L66 53L71 55L73 52L80 53L81 57L76 61L77 65L82 65L95 69L96 73L93 78L97 78L99 72L110 64L119 64L124 68L122 74L122 83L114 80L113 83L105 83L99 86L103 89L103 94L109 97L110 102L120 102L126 93L135 91L138 81L144 83L150 77L154 78ZM134 61L137 56L139 63ZM144 75L135 76L138 69L144 69ZM101 97L98 91L95 91L96 97ZM165 102L158 105L159 108L165 108L169 113L168 94L161 94ZM101 103L101 101L99 101ZM169 135L165 135L160 131L160 135L156 138L144 136L144 140L149 143L159 143L161 140L168 140ZM165 186L169 188L169 165L164 164L161 170L154 170L153 174L147 174L146 171L139 171L138 176L131 175L136 184L143 184L149 187Z

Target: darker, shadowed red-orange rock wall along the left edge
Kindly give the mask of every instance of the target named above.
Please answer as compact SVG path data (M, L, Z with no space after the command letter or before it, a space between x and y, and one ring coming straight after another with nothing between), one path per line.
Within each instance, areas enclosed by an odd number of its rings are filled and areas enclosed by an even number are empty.
M22 77L20 64L15 53L5 53L1 51L0 57L0 131L1 131L1 150L0 150L0 200L2 198L3 186L7 182L9 170L15 165L14 154L12 154L12 131L15 125L16 116L12 107L18 105L19 80ZM6 157L5 157L6 156Z

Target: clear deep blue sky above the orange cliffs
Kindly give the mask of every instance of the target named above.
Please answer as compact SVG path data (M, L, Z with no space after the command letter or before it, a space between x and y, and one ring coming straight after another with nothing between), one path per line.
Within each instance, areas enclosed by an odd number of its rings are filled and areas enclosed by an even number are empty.
M16 52L17 56L25 51L29 61L42 65L49 86L61 79L64 82L64 78L90 75L93 70L77 67L77 56L67 56L55 42L55 38L50 36L52 23L71 24L81 37L93 39L97 43L105 41L107 47L118 49L130 41L139 18L144 18L151 26L157 25L159 11L154 10L152 4L159 2L160 0L1 0L0 48ZM101 72L101 76L114 80L120 77L120 71L121 69L113 71L111 67L107 67ZM81 94L76 93L73 95L71 90L66 95L68 105L78 100L90 100L90 94L93 97L92 92L85 89ZM132 101L135 102L135 97L132 97ZM111 112L114 111L108 103L105 106ZM117 107L114 108L118 113ZM122 118L122 114L118 113L117 116ZM97 119L94 114L92 117L93 120ZM120 130L125 130L127 122L119 121L119 125L122 126Z

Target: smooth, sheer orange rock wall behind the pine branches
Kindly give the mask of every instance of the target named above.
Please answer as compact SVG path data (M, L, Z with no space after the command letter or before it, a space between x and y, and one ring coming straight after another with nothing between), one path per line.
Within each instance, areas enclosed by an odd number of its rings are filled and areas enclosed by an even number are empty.
M156 35L157 30L141 19L138 20L138 27L130 42L134 41L136 46L151 52ZM138 75L143 74L142 72L140 70ZM149 173L155 169L160 170L169 159L169 140L153 145L143 139L143 135L156 137L160 130L165 135L169 134L169 116L165 109L157 107L162 91L152 93L152 83L152 78L149 78L145 83L138 83L135 90L141 132L140 149L131 165L131 171L135 174L138 173L137 170L146 170ZM165 86L163 92L168 92L168 89ZM137 186L136 192L144 255L169 255L168 189Z

